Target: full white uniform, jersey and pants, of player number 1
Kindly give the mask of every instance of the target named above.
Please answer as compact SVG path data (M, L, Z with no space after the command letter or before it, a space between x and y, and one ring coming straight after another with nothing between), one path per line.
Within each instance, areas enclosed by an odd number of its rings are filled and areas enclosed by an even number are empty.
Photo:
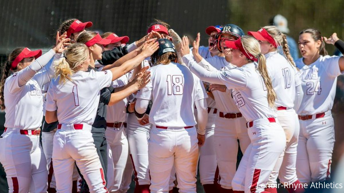
M74 162L89 186L90 192L106 192L101 167L91 128L97 113L100 90L111 85L109 70L77 71L73 82L59 84L60 77L52 80L46 95L47 111L56 111L59 126L54 136L53 162L56 191L72 190Z

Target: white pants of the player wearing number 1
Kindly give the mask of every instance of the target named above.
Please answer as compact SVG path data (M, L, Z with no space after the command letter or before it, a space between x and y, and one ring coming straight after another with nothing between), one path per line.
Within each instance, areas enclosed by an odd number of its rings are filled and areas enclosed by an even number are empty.
M72 192L74 162L84 176L91 193L107 192L104 171L93 143L91 125L74 129L72 125L62 124L54 136L53 167L56 191Z

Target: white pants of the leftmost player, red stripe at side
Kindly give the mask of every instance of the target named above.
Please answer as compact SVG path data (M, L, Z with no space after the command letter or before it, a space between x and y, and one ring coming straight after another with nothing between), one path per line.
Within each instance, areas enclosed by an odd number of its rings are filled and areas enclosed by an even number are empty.
M22 135L7 128L0 138L0 162L9 192L42 193L48 188L48 170L39 135Z

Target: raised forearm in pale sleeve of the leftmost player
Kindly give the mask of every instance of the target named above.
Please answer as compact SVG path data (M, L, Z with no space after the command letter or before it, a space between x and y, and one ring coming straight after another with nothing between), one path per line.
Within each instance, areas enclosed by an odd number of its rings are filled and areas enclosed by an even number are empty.
M49 52L43 54L41 57L33 61L28 67L19 71L17 74L17 76L19 76L18 85L21 87L26 84L26 82L34 77L35 74L40 71L51 60L52 57L54 57L54 55L55 51L51 49Z

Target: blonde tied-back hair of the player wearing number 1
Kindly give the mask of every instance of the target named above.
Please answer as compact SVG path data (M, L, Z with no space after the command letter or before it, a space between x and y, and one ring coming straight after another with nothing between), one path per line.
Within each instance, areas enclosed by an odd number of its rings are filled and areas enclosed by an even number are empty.
M72 44L64 51L64 57L57 61L55 77L60 76L59 84L72 81L72 75L80 69L88 57L88 48L85 44Z

